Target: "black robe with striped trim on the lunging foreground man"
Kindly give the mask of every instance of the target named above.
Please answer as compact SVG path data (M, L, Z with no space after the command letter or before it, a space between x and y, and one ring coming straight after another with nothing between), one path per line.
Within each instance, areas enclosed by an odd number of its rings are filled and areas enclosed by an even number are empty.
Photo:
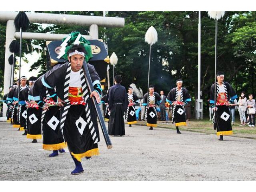
M87 64L94 90L102 94L100 77L94 66ZM71 67L70 63L58 64L42 77L42 84L47 88L50 96L57 96L65 101L61 108L60 129L68 144L70 153L78 161L86 156L98 155L98 142L100 141L96 110L85 82L84 72L80 70L81 86L85 105L71 105L68 99ZM54 88L56 91L54 91ZM36 96L36 93L34 93Z

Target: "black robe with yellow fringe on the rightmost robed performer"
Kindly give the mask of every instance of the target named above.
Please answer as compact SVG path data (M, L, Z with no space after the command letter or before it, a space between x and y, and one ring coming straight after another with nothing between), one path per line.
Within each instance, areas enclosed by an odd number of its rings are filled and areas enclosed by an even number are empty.
M214 85L212 84L210 89L210 104L214 105L218 100L219 95L219 85L216 82L216 101L214 100ZM231 87L228 82L223 82L225 93L222 96L226 97L228 102L233 102L238 96L236 92ZM228 106L220 105L218 102L216 103L217 110L214 112L214 117L216 117L216 123L214 123L214 129L217 129L217 135L231 135L233 134L231 119L230 119L230 111Z

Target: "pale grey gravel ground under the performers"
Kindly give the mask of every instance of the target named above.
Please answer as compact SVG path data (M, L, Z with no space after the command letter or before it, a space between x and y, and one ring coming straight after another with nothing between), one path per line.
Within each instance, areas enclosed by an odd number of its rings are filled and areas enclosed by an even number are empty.
M100 155L84 158L84 173L74 176L68 152L49 158L42 140L0 122L0 181L256 180L256 140L180 131L126 125L125 136L110 136L112 149L101 135Z

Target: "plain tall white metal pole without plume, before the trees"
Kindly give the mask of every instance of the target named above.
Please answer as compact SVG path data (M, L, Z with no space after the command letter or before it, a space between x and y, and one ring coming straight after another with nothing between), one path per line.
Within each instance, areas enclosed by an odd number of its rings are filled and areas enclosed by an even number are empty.
M201 11L198 12L198 91L197 91L197 119L200 118L200 92L201 92Z

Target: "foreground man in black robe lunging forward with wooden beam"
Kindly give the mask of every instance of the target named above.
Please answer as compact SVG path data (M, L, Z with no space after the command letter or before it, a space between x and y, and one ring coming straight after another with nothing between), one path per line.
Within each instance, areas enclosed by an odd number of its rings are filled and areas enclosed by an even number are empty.
M73 35L75 34L73 33ZM76 40L76 38L72 39ZM61 107L60 130L76 165L71 174L84 172L81 158L89 158L99 154L98 142L100 137L92 96L100 103L102 89L98 73L94 66L88 63L94 91L89 93L86 84L82 66L84 61L87 62L90 58L88 55L92 55L88 44L81 42L68 46L66 55L69 62L54 66L41 79L50 97L56 94L58 105Z

